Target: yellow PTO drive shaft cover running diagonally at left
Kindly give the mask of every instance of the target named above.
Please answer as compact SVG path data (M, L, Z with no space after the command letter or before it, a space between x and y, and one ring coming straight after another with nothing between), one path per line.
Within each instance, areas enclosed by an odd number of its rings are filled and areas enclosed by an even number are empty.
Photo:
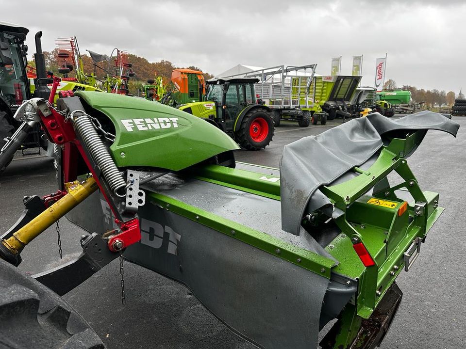
M8 258L9 261L12 262L15 259L19 259L19 253L22 251L24 246L36 238L40 233L45 231L54 222L58 221L60 218L66 215L69 211L71 211L71 209L81 203L86 197L91 195L98 188L99 187L95 179L92 177L87 178L82 182L76 181L67 183L68 193L64 197L40 213L31 222L20 228L13 234L13 236L0 241L0 243L3 245L1 246L3 252L5 251L3 247L6 247L11 257L13 257ZM2 253L2 257L5 258L4 253ZM19 261L17 264L19 264Z

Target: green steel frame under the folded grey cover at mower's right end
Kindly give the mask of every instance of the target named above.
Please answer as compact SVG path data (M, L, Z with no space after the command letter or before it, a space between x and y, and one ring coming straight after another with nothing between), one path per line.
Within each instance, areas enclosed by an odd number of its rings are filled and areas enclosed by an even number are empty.
M422 141L423 136L423 131L416 131L411 135L407 135L405 140L393 139L388 146L381 150L379 158L369 169L362 170L355 167L354 172L358 173L358 176L341 184L320 188L322 193L333 202L335 206L334 221L348 237L348 240L341 237L337 238L334 244L337 248L327 249L327 251L331 252L340 262L346 259L346 263L340 263L339 266L334 268L335 272L359 278L360 287L357 304L360 317L370 317L385 291L398 276L401 270L400 267L404 263L404 252L416 238L426 236L427 231L443 210L436 206L438 194L424 193L420 190L414 174L409 169L406 159L403 158L412 153ZM356 228L356 224L347 220L350 206L355 204L363 194L367 193L377 183L386 181L388 186L386 176L392 171L396 171L404 182L393 188L379 188L378 192L373 195L373 197L381 200L390 199L396 203L396 206L391 209L393 218L390 224L384 229L376 225L363 226L363 224ZM397 217L398 208L403 201L396 196L395 190L401 188L406 188L414 199L414 202L408 206L408 213L405 213L413 218L410 223L408 223L407 216L403 216L404 221L402 221L402 217ZM426 196L429 196L429 198L426 198ZM370 198L370 196L366 197L366 201L367 198ZM366 201L360 200L358 205L361 206ZM374 210L359 212L359 216L364 219L365 214L382 214L383 209L383 207L380 207L378 212ZM382 222L382 216L380 221ZM402 226L403 224L404 226ZM381 240L377 237L380 237L383 231L385 231L386 237ZM374 266L364 268L361 262L356 266L351 266L352 263L348 263L348 254L352 250L351 244L359 242L366 246L375 262ZM352 253L355 255L354 251Z

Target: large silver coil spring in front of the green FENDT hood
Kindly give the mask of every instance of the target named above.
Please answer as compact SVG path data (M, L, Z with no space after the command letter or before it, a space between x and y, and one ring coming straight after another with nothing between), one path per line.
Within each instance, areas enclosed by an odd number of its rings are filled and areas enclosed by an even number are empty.
M89 115L83 112L83 115L73 118L72 120L76 132L80 135L96 165L99 166L110 190L112 190L116 196L124 197L126 192L119 194L118 191L126 188L126 181L118 171L107 147L100 139Z

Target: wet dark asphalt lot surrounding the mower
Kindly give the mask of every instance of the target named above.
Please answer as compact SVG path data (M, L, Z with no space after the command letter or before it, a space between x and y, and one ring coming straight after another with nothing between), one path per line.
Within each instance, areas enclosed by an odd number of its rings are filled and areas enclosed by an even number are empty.
M409 273L398 284L403 301L382 348L443 349L466 346L466 118L458 137L429 131L409 159L423 190L440 192L446 208L423 244ZM278 167L283 145L316 135L326 127L283 123L264 151L237 152L239 161ZM56 190L50 159L17 159L0 177L0 230L5 231L22 211L24 195ZM78 228L60 221L64 258L80 253ZM22 253L20 269L36 273L60 263L55 228L42 234ZM189 290L142 267L125 263L127 303L120 302L117 261L69 292L69 301L109 349L252 349L205 310Z

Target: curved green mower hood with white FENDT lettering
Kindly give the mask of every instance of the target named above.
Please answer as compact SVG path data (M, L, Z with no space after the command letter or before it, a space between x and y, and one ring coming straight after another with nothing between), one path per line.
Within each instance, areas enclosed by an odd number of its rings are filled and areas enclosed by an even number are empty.
M116 139L110 151L118 167L180 171L217 154L239 149L215 126L158 102L101 92L80 91L75 95L114 124Z

